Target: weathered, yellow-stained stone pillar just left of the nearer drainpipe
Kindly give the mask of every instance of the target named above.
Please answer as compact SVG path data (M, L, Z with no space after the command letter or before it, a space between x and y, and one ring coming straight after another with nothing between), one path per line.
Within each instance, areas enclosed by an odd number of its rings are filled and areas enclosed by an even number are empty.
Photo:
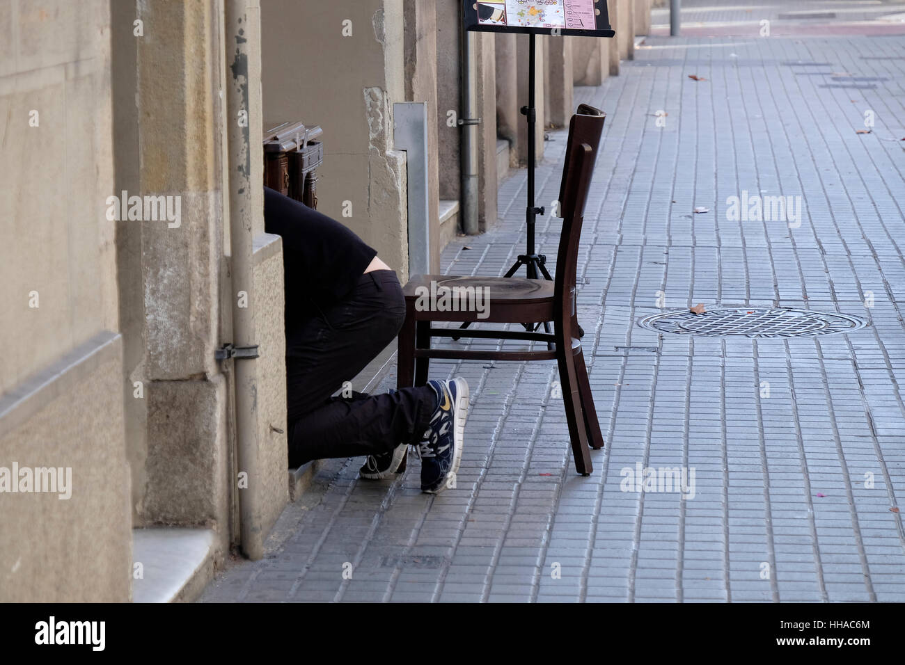
M134 186L138 195L179 196L182 220L176 228L152 221L120 225L120 244L140 248L134 261L120 266L120 280L140 284L139 298L138 287L122 298L136 322L129 343L138 351L129 360L137 365L128 366L129 378L144 386L140 406L133 404L129 381L125 396L135 417L127 428L135 525L214 527L223 556L229 407L214 359L222 335L223 10L216 2L155 2L136 11L144 36L136 40L135 69L121 72L114 88L128 90L123 80L129 76L135 81ZM121 46L114 41L118 53ZM129 100L119 103L129 107ZM118 139L118 166L132 151L130 141Z

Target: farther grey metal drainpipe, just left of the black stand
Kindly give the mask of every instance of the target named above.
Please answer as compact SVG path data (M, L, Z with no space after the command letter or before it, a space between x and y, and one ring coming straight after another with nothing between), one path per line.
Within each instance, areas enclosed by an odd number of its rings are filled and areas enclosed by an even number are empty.
M462 26L460 53L462 55L462 114L459 126L462 128L461 166L462 169L462 232L468 235L478 233L478 123L477 90L475 85L476 65L474 62L474 33Z

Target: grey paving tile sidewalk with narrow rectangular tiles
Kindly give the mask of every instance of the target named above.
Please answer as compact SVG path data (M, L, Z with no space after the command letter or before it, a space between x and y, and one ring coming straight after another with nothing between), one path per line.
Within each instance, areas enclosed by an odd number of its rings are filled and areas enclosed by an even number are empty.
M416 459L386 482L330 461L267 558L230 566L204 602L905 601L905 38L645 46L576 90L608 115L578 266L607 442L593 475L575 473L553 362L436 362L472 386L456 489L420 494ZM541 204L565 143L550 132ZM447 273L506 271L524 188L524 172L501 185L501 223L453 242ZM728 221L743 191L800 196L801 225ZM559 228L538 223L551 258ZM636 323L698 302L869 325L752 340ZM693 469L693 497L624 487L639 463Z

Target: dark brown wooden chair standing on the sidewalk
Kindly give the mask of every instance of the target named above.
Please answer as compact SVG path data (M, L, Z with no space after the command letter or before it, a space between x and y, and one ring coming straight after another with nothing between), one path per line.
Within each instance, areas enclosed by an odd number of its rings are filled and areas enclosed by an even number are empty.
M465 360L556 358L575 467L578 473L586 476L593 470L588 445L595 450L603 448L604 438L600 432L600 423L597 422L594 397L587 380L585 357L578 337L576 263L587 191L591 183L605 115L602 111L584 104L578 111L569 123L566 167L563 170L559 190L563 228L559 237L555 279L548 281L517 277L414 276L404 289L406 311L405 324L399 333L398 386L402 388L426 384L430 358ZM481 292L489 295L489 308L484 312L425 308L424 295L431 292L432 282L435 282L433 292L441 294L444 287L450 291L459 288L459 294L470 293L462 289L481 288ZM479 314L486 318L479 317ZM472 324L481 322L541 324L553 321L555 332L432 328L432 321ZM534 328L537 329L538 326ZM519 351L431 348L433 337L519 339L548 344L538 350ZM550 350L551 347L553 350Z

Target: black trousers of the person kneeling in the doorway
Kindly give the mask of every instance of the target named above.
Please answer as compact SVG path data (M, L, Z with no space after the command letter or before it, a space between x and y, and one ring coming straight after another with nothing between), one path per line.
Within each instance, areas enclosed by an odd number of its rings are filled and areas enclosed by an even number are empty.
M390 342L405 321L405 299L394 271L366 272L335 306L315 311L287 340L289 465L356 457L417 443L436 405L424 385L367 395L331 397Z

